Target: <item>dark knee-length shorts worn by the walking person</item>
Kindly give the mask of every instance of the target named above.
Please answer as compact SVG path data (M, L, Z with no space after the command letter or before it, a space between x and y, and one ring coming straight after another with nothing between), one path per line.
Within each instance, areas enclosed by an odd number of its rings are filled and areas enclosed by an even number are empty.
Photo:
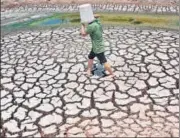
M100 61L101 64L104 64L104 63L107 62L107 59L106 59L106 57L104 55L104 52L96 54L91 50L91 52L89 53L88 58L89 59L94 59L95 57L98 58L98 60Z

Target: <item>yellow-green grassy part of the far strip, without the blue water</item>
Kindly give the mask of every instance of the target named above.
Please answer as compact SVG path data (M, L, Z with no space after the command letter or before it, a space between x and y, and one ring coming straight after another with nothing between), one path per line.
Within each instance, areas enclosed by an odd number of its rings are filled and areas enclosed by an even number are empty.
M103 24L127 25L139 27L160 27L165 29L178 29L179 17L177 15L157 14L129 14L129 13L98 13ZM79 13L64 13L60 18L68 18L70 24L80 24Z

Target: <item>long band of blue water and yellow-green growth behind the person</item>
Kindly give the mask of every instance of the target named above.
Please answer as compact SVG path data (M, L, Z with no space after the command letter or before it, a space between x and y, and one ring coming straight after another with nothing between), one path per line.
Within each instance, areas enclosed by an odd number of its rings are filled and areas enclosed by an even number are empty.
M103 25L151 27L164 29L179 29L179 17L177 15L157 14L130 14L130 13L98 13ZM25 22L17 22L2 26L2 30L19 30L33 28L56 28L65 26L80 26L79 13L54 13L48 17L42 17Z

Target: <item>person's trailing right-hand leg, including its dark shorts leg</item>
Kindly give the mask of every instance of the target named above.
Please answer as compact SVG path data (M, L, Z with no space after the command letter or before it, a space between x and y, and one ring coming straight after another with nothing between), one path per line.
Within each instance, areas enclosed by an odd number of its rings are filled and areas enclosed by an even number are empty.
M104 65L105 70L109 72L110 76L114 77L115 75L111 69L110 64L107 62L104 52L97 54L97 58L99 59L100 63Z

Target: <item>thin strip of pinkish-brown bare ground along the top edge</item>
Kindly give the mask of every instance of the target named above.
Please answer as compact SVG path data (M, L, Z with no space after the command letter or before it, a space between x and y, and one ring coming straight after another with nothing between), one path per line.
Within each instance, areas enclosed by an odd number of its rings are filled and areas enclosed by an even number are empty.
M151 5L164 5L171 6L177 5L178 0L1 0L1 8L15 7L27 4L83 4L83 3L131 3L131 4L151 4Z

